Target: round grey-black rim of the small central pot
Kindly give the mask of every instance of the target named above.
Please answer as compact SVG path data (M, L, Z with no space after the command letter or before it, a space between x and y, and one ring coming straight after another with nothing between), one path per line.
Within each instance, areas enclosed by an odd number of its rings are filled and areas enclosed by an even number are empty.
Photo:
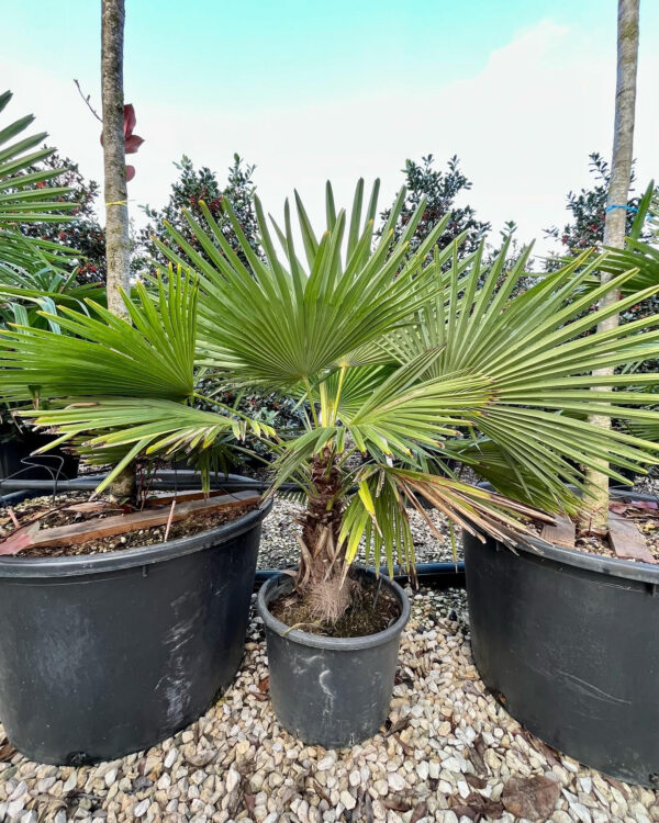
M376 576L373 572L364 568L362 566L355 566L355 568L366 575L372 577ZM360 638L324 638L320 634L303 632L300 629L291 629L281 620L278 620L268 608L268 604L272 599L275 590L280 587L282 583L291 582L291 576L288 574L280 574L264 583L258 590L256 608L267 629L275 632L275 634L278 634L280 638L290 640L293 643L299 643L303 646L311 646L312 649L326 649L334 652L355 652L360 649L375 649L376 646L388 643L390 640L401 634L410 620L411 611L410 599L403 588L399 586L395 580L392 580L383 574L380 574L380 577L383 584L389 586L398 598L401 606L401 613L392 625L381 632L376 632L376 634L367 634Z

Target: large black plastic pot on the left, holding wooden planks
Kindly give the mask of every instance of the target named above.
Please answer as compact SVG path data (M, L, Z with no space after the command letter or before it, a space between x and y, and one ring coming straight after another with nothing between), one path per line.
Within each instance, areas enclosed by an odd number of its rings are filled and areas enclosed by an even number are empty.
M146 548L0 557L0 720L14 746L41 763L111 760L202 714L243 657L268 510Z

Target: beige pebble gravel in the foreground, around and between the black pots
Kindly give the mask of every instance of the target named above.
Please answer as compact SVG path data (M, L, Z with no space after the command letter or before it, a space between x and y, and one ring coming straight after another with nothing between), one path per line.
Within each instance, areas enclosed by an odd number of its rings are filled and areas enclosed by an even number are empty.
M281 730L256 618L234 686L148 752L92 767L40 766L11 756L0 728L0 759L9 757L0 763L0 821L659 821L654 791L559 755L487 694L466 608L462 591L414 596L387 729L350 749L304 746ZM511 792L515 782L544 788L522 797Z

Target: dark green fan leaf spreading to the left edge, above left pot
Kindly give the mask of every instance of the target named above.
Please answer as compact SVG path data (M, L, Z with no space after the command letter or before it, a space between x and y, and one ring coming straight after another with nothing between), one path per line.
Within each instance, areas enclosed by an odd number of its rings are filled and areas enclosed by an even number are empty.
M157 300L142 284L137 305L123 295L129 319L89 300L90 316L67 306L42 313L67 335L18 327L0 332L0 391L4 399L153 397L193 392L197 288L191 278L158 284Z

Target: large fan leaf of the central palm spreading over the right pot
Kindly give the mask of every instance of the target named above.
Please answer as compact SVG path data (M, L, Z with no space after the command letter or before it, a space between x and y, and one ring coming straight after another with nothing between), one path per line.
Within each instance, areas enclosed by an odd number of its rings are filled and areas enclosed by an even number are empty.
M446 453L471 463L496 488L517 499L534 500L557 510L578 501L566 483L583 488L579 465L604 459L618 466L655 463L657 446L622 431L590 425L591 414L655 422L647 391L595 391L594 386L625 387L638 375L592 377L603 365L625 365L659 353L657 316L628 323L605 334L596 324L659 291L656 283L605 309L591 312L608 289L635 275L618 274L612 284L583 293L582 284L604 258L588 252L527 292L510 298L524 270L522 258L503 279L505 249L490 271L478 261L463 277L451 272L443 294L420 312L414 327L399 330L388 341L399 362L411 362L428 345L443 346L426 376L468 375L488 384L488 399L467 410L466 421L481 436L446 444ZM498 285L499 283L499 285ZM656 375L640 379L646 385ZM614 470L611 475L621 478Z

